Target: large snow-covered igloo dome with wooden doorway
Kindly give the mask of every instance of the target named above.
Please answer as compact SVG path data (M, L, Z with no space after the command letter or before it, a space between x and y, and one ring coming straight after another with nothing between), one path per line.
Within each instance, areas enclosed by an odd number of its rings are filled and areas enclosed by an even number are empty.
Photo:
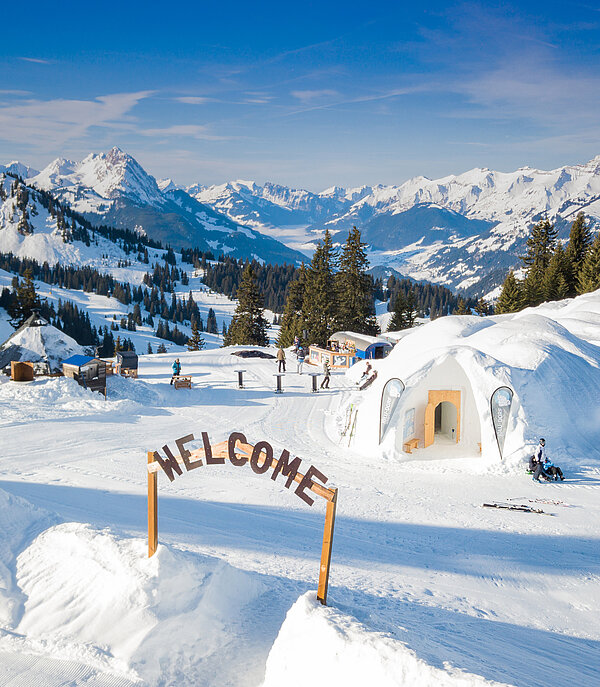
M379 448L382 455L477 458L481 445L475 469L522 470L523 459L543 436L559 463L600 462L600 291L512 315L442 317L407 332L388 358L374 365L375 383L364 397L353 399L359 404L355 448L366 455L379 443L383 387L399 378L406 389ZM359 372L357 366L348 375ZM504 385L514 398L500 466L490 398ZM452 411L450 435L442 415L443 446L436 429L435 443L423 448L431 390L460 392L460 417ZM420 448L409 456L404 443L412 438L419 439Z

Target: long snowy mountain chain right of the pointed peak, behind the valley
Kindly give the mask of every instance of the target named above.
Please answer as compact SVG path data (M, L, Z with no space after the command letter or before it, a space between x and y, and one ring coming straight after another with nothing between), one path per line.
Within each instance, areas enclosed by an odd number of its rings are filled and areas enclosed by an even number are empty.
M328 228L337 241L358 226L374 264L415 279L486 290L519 265L531 224L544 213L560 236L582 210L600 220L600 156L551 171L472 169L441 179L414 177L398 186L332 187L318 194L254 182L188 192L236 221L306 225L315 241ZM282 234L283 236L284 234Z

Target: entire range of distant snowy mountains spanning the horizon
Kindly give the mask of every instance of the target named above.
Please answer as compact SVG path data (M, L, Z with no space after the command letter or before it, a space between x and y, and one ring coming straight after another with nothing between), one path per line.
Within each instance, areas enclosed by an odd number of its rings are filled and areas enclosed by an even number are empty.
M320 193L231 181L180 187L157 181L118 148L42 171L0 171L49 190L93 222L137 228L174 246L299 263L329 229L342 243L356 225L372 264L470 293L487 293L519 266L532 223L547 215L566 238L579 211L600 224L600 156L551 171L472 169L400 185L333 186Z

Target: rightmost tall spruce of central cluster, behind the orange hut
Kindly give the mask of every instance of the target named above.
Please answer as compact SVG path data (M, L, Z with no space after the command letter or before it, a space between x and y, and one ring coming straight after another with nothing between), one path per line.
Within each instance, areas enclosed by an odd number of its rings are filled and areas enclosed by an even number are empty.
M373 307L373 280L367 274L369 260L360 231L352 227L342 248L335 275L336 329L357 334L379 334Z

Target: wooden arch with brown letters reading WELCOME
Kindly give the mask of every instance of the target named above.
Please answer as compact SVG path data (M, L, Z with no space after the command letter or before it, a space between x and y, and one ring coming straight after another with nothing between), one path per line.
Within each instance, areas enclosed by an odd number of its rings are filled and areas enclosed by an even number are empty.
M166 456L163 458L158 451L148 452L148 557L156 553L158 547L158 470L163 469L172 482L176 475L181 475L185 469L195 470L206 465L223 465L229 459L235 466L249 464L252 471L261 475L272 468L271 479L275 481L281 474L286 478L287 489L296 482L298 486L294 493L307 505L312 506L314 499L306 492L310 491L327 501L325 511L325 528L323 531L323 546L321 549L321 565L319 568L319 586L317 599L327 605L327 589L329 586L329 570L331 567L331 551L333 547L333 529L335 526L335 511L337 506L337 489L324 486L327 477L311 465L305 474L299 472L301 458L290 460L290 453L283 450L279 459L273 457L273 447L267 441L259 441L255 445L249 444L241 432L232 432L227 441L211 445L206 432L202 432L204 448L188 451L185 444L194 441L194 435L188 434L176 439L175 444L179 455L175 456L168 445L162 447ZM314 478L321 483L315 482Z

